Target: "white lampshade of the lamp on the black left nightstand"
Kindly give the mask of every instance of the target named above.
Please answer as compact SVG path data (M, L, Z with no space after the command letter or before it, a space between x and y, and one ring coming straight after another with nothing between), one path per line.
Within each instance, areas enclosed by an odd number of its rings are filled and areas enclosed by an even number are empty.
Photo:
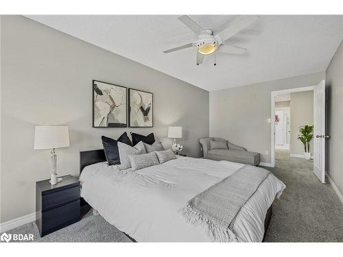
M36 126L34 149L69 147L68 126Z

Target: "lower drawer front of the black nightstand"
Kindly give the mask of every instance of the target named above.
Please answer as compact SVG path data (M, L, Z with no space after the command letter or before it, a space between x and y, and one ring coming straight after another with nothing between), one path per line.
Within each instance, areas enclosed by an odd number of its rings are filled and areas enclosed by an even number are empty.
M42 213L42 234L80 220L80 200Z

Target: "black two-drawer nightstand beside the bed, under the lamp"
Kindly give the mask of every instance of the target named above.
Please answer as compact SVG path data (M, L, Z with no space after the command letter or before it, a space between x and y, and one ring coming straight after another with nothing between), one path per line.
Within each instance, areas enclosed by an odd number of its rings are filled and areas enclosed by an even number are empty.
M49 180L36 182L36 224L45 236L80 221L80 181L71 175L51 185Z

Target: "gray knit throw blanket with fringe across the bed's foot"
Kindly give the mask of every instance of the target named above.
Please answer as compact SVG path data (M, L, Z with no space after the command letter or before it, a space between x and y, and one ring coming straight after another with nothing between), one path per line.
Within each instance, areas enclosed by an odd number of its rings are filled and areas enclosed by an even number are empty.
M182 209L182 215L189 223L204 226L212 241L236 242L235 219L268 175L270 171L262 168L241 167L190 199Z

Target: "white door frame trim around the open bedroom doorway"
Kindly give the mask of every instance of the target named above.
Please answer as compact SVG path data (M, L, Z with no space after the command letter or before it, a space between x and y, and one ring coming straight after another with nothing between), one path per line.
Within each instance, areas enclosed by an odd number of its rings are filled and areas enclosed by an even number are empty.
M317 85L316 85L317 86ZM304 86L302 88L289 88L284 90L277 90L271 92L271 111L270 111L270 138L271 138L271 145L270 145L270 164L271 167L275 167L275 96L276 95L283 95L288 93L297 93L297 92L305 92L305 91L314 91L316 86Z

